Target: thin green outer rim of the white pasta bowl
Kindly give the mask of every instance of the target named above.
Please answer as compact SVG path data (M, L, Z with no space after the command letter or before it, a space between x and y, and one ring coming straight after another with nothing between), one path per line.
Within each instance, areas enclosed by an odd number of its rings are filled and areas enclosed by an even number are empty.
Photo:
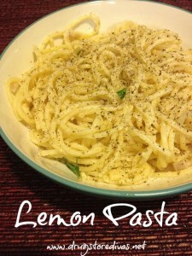
M36 20L31 25L27 26L23 31L21 31L7 45L7 47L3 50L2 55L0 56L0 60L2 59L3 55L6 53L7 49L9 49L10 45L15 42L15 39L19 38L23 32L25 32L29 27L38 23L40 20L43 20L44 18L48 17L49 15L54 15L55 13L60 12L63 9L73 8L74 6L77 6L77 5L92 4L92 3L104 3L104 2L111 2L111 1L110 0L109 1L108 0L107 1L106 0L102 0L102 1L96 0L96 1L73 4L71 6L67 6L65 8L58 9L58 10ZM115 2L115 1L113 1L113 2ZM167 4L167 3L158 3L158 2L149 1L149 0L147 0L147 1L137 0L137 2L148 2L148 3L156 3L156 4L166 5L166 6L170 6L170 7L174 8L174 9L180 9L181 11L187 12L190 15L192 15L192 13L189 10L185 10L185 9L182 9L182 8L179 8L176 6L172 6L171 4ZM1 127L0 127L0 135L3 138L4 142L8 144L9 148L11 148L15 152L15 154L17 154L20 157L21 160L25 161L28 166L31 166L33 169L44 174L44 176L49 177L50 179L54 180L55 182L61 183L65 186L67 186L68 188L76 189L76 190L79 190L86 194L107 197L107 198L111 198L111 199L130 199L132 201L143 201L143 200L151 200L151 199L157 199L157 198L166 198L166 197L170 197L173 195L183 194L185 192L189 192L190 190L192 190L192 183L187 183L187 184L179 185L176 187L171 187L169 189L156 189L156 190L148 190L148 191L100 189L100 188L96 188L96 187L91 187L86 184L76 183L76 182L67 180L63 177L59 177L56 174L44 169L43 167L38 166L38 164L36 164L32 160L30 160L28 157L26 157L25 154L21 153L20 150L15 147L15 144L9 140L9 137L6 136L5 132L3 131L3 129Z

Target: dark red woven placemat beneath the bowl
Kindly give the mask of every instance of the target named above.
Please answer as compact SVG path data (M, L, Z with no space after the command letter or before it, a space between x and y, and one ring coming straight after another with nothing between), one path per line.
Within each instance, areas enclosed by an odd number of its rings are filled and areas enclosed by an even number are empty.
M9 41L33 21L56 9L83 2L85 1L2 1L1 52ZM191 0L156 2L170 3L192 11ZM84 244L92 244L86 255L192 255L192 193L165 200L166 212L177 212L177 225L160 227L152 218L153 224L148 228L141 225L134 227L129 223L131 218L128 217L121 219L119 226L115 226L103 215L102 210L117 201L82 195L54 183L21 161L1 138L0 145L0 255L80 255L85 253L85 249L80 247ZM80 212L81 216L94 212L94 223L91 225L88 221L74 227L47 224L37 225L35 228L32 225L15 228L22 201L32 203L31 212L23 214L22 221L37 222L39 213L46 212L48 218L51 213L59 214L69 223L74 212ZM162 200L124 203L137 207L137 212L142 212L143 219L146 220L146 210L160 212ZM23 209L24 212L26 210L27 207ZM127 208L117 208L114 212L117 216L122 216L127 213ZM74 243L76 249L72 250ZM97 246L96 250L94 244ZM127 244L130 244L131 249L125 250L123 246L128 248ZM52 245L55 250L50 250ZM108 247L102 248L102 245ZM67 249L67 246L71 246L71 249ZM142 246L145 246L144 249Z

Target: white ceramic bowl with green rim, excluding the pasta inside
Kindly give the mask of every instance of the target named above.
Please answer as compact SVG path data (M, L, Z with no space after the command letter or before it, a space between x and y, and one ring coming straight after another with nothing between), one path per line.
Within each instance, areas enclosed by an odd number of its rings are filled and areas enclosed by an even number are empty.
M90 12L100 17L101 32L120 21L132 20L139 24L167 28L177 32L183 38L184 46L192 47L192 15L187 11L162 3L126 0L96 1L73 5L47 15L20 32L4 49L1 56L0 133L3 139L22 160L38 172L73 189L79 189L92 195L148 200L189 191L192 189L191 173L172 179L151 178L147 184L122 188L103 183L94 186L81 183L66 166L38 157L38 148L30 142L26 127L15 118L4 89L6 80L9 79L9 76L20 76L31 67L34 45L39 45L49 33L63 30L78 16Z

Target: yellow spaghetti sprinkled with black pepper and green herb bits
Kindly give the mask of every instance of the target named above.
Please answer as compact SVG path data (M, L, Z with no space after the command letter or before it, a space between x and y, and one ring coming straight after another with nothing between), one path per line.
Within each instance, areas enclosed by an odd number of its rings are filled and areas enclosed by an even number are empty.
M79 32L90 20L93 28ZM131 21L100 33L84 15L34 49L9 79L17 119L39 155L88 182L144 183L192 168L192 49L175 32Z

